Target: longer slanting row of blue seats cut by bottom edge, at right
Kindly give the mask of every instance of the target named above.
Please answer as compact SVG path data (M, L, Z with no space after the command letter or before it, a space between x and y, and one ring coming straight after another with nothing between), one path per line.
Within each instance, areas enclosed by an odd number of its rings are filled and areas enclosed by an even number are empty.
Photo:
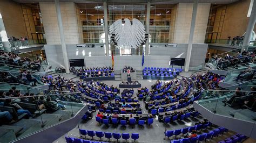
M227 132L228 130L224 127L216 128L210 132L202 133L197 135L197 137L194 138L185 138L185 139L179 139L179 140L172 140L170 142L172 143L196 143L197 141L206 141L207 139L212 139L213 137L218 137L219 134L224 134L224 132Z

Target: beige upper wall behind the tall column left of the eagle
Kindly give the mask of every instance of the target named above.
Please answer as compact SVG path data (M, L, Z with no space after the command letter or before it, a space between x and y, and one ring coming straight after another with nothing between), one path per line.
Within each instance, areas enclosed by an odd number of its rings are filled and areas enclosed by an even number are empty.
M44 23L45 38L47 44L60 44L59 27L55 3L39 3ZM80 35L78 33L76 5L75 3L60 3L64 38L66 44L79 44Z

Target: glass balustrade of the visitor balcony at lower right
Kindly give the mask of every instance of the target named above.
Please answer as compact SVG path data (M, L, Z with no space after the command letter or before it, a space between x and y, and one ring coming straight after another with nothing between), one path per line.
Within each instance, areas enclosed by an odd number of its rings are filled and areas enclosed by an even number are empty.
M198 104L212 113L255 123L256 102L253 97L253 92L250 90L205 90Z

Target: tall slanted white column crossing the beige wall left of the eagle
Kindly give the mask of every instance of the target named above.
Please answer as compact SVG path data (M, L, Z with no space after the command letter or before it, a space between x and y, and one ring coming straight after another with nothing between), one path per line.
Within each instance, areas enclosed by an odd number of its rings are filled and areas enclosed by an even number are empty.
M66 52L66 43L65 43L64 32L63 32L62 15L60 13L59 0L55 0L55 7L56 7L56 13L57 13L57 19L58 19L58 25L59 25L60 42L62 44L62 54L63 54L64 66L66 69L66 73L68 74L69 73L69 60L68 60L68 53Z

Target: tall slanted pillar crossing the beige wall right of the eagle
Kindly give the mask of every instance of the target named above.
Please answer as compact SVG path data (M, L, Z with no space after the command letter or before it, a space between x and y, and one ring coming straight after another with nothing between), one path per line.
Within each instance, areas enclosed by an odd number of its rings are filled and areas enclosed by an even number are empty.
M191 25L190 25L190 37L188 39L187 56L186 56L186 63L185 63L186 72L190 68L190 58L191 58L192 44L193 44L193 38L194 38L194 27L196 25L196 18L197 18L197 6L198 6L198 0L194 0L193 13L192 13L192 19L191 19Z

